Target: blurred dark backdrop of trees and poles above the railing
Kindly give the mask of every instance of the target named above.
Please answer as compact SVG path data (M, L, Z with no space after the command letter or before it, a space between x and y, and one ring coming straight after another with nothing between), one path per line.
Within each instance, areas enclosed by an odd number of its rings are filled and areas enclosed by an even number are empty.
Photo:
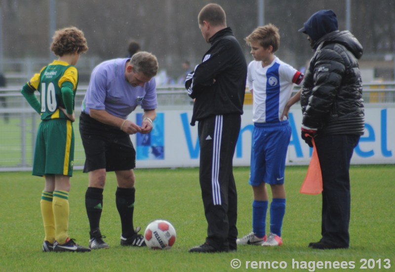
M252 58L243 38L258 24L272 23L281 34L276 55L296 68L306 66L313 54L298 29L315 11L333 9L339 29L351 30L364 47L364 81L395 80L393 0L0 0L0 71L9 84L21 84L21 77L30 78L29 72L54 57L49 50L53 32L74 25L89 45L77 65L82 82L99 62L127 56L134 39L158 57L160 83L171 84L184 72L185 60L193 68L209 48L197 26L198 12L209 2L225 9L247 61Z

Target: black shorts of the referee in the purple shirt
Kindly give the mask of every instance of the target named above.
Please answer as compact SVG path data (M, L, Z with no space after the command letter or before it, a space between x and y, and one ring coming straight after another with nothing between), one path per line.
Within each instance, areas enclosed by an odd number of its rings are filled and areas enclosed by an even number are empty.
M83 171L130 170L136 167L136 151L130 136L118 127L103 124L82 112L79 133L85 150Z

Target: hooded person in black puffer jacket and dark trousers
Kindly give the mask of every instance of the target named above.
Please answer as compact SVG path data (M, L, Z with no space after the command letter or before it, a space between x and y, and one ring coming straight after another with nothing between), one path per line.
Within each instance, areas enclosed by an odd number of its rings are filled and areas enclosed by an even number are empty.
M349 31L339 31L333 10L314 13L299 32L315 51L301 91L302 138L316 143L322 172L322 224L315 249L350 245L350 160L364 131L362 46Z

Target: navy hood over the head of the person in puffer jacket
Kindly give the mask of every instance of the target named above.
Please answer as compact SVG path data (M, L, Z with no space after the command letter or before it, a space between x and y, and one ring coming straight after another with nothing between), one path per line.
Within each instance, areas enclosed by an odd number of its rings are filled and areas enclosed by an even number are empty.
M308 34L313 41L317 41L325 34L336 30L338 25L335 12L332 9L323 9L314 13L299 32Z

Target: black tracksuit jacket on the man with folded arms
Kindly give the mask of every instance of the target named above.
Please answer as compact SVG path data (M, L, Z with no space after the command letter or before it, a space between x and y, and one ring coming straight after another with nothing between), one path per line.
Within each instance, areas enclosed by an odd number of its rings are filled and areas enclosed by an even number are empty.
M212 115L243 114L247 64L231 28L214 34L202 63L187 76L185 87L195 99L191 125Z

